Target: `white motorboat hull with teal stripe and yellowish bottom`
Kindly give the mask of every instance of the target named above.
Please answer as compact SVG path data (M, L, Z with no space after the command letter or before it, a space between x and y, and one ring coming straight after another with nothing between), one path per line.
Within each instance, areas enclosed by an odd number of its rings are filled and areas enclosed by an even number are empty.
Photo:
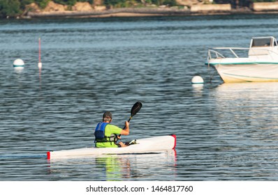
M217 62L211 61L225 83L278 81L278 63L275 62Z

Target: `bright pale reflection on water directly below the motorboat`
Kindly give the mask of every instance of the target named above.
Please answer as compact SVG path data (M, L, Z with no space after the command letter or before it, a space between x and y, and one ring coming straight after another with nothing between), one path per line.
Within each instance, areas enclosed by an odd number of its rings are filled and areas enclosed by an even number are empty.
M221 84L213 94L220 129L277 130L277 82Z

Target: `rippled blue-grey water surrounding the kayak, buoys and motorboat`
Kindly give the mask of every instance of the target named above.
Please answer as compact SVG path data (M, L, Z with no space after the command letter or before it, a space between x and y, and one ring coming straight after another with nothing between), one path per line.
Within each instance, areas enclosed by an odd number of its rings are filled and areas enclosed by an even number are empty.
M0 180L278 180L278 83L222 84L204 65L210 47L278 36L277 19L1 20ZM176 151L47 162L93 146L103 111L124 126L136 101L129 139L177 134Z

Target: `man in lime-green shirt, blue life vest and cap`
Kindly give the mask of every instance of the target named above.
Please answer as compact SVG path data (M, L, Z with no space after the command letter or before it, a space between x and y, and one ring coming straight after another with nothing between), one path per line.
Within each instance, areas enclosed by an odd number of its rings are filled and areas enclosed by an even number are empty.
M129 122L126 121L126 127L122 130L120 127L111 125L112 114L110 111L105 111L103 114L103 122L96 125L94 132L96 148L117 148L126 147L126 144L117 140L120 139L118 134L129 135Z

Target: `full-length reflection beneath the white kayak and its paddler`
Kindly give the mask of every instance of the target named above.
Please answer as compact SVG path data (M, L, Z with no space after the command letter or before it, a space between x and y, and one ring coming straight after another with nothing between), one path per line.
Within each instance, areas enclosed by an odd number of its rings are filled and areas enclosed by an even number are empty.
M175 176L176 151L165 150L157 153L131 153L101 155L79 159L55 159L51 161L49 173L55 176L76 178L76 180L167 180ZM76 173L75 170L88 170ZM76 175L77 174L77 175ZM73 177L75 175L75 177ZM88 177L89 175L89 177ZM171 177L173 178L173 177ZM71 179L72 180L72 179ZM75 179L74 179L75 180Z

